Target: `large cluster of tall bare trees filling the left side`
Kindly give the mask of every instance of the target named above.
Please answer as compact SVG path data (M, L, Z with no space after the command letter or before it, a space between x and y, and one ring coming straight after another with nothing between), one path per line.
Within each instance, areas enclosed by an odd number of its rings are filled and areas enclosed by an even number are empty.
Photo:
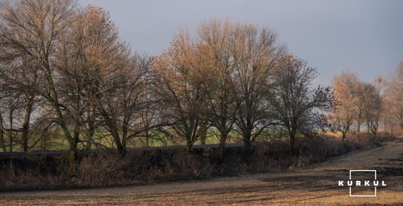
M124 121L122 125L127 127L127 118L132 115L124 110L132 109L123 105L125 98L137 101L139 96L120 91L136 88L138 92L148 84L144 78L149 69L146 58L131 54L103 9L82 10L75 2L64 0L2 6L0 76L8 102L8 108L2 110L9 116L9 151L18 133L27 151L32 147L28 145L29 135L37 138L37 131L53 128L68 142L69 158L74 160L78 145L92 144L101 124L120 151L124 142L115 134L116 125ZM23 116L21 128L13 125L14 113ZM34 122L31 116L36 116Z

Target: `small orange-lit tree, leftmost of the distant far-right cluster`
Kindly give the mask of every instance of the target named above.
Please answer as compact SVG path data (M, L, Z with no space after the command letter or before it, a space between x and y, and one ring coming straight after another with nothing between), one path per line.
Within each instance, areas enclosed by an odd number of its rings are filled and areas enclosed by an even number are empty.
M355 117L354 106L356 106L356 88L359 79L357 74L347 71L334 76L332 87L337 98L337 104L328 118L332 128L342 132L342 141L346 139L346 134L350 131Z

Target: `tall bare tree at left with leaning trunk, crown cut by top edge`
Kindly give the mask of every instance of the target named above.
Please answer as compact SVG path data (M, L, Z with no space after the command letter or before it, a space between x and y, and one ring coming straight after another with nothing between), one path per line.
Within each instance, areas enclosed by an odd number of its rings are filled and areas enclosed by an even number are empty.
M7 47L5 56L25 55L38 63L42 81L36 93L46 99L54 112L54 119L62 129L70 144L69 161L77 157L77 137L72 136L66 106L59 84L60 70L54 65L55 58L64 44L64 35L69 33L73 15L76 12L74 1L21 1L6 4L2 13L1 42Z

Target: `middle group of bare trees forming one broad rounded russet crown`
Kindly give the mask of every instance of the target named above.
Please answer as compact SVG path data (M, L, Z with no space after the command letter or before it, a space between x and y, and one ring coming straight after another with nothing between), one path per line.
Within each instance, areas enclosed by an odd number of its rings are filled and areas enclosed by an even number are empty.
M334 98L330 88L312 89L316 70L287 54L272 30L251 24L212 20L194 36L180 31L152 70L170 134L190 151L213 128L221 157L231 131L244 152L264 132L287 131L293 155L296 135L326 125Z

